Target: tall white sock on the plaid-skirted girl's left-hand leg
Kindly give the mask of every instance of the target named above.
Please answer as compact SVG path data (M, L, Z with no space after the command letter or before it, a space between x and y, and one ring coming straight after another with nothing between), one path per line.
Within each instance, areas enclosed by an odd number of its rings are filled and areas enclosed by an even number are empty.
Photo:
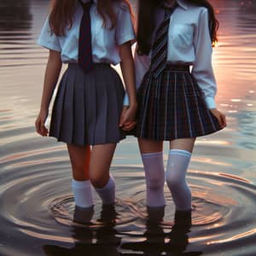
M166 205L163 152L142 154L142 159L147 185L147 206L162 207Z

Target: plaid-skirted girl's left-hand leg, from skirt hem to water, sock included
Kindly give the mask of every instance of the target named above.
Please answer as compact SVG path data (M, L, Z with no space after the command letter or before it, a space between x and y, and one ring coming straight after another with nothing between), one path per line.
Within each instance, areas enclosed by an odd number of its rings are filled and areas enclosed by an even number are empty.
M166 205L163 142L140 138L138 143L146 176L147 206L163 207Z

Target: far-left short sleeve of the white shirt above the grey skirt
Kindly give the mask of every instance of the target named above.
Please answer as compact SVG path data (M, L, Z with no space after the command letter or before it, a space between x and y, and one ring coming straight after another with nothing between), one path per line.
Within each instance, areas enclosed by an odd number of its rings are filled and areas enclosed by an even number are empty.
M61 51L61 44L59 38L50 30L49 15L46 17L46 20L44 21L44 26L38 38L38 44L47 49Z

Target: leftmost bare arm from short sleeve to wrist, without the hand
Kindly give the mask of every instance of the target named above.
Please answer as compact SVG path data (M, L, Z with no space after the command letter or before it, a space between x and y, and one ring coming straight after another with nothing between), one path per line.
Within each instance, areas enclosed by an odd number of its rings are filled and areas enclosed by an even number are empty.
M41 110L48 110L55 85L61 72L61 54L56 51L49 51L49 58L44 74L44 89L41 100Z

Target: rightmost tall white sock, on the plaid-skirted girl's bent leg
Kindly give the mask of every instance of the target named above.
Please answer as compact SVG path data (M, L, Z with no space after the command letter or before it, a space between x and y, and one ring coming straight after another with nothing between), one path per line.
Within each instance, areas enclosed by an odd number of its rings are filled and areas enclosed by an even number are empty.
M191 209L191 191L186 182L186 172L191 153L189 151L172 149L166 169L166 183L171 190L176 209L187 211Z

